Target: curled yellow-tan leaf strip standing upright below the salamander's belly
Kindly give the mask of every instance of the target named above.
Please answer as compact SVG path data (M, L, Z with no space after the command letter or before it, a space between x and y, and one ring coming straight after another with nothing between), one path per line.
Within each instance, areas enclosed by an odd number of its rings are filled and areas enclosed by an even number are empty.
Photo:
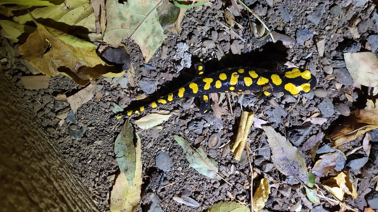
M253 117L253 112L248 113L244 111L242 113L242 118L239 123L238 134L236 135L235 143L231 148L231 151L234 154L234 159L237 161L240 161L242 157L242 153L247 142L249 130L252 126Z

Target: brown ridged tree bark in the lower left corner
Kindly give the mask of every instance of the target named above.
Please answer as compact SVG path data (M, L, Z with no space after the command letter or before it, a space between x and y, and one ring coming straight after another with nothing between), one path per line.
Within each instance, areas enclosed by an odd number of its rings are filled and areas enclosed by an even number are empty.
M0 212L98 212L36 114L0 73Z

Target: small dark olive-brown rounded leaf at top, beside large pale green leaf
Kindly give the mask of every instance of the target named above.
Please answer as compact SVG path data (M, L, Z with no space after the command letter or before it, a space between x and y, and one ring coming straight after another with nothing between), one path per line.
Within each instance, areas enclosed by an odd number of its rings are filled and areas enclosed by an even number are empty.
M179 14L180 8L168 2L168 0L164 0L162 5L158 7L159 22L163 28L175 23Z

